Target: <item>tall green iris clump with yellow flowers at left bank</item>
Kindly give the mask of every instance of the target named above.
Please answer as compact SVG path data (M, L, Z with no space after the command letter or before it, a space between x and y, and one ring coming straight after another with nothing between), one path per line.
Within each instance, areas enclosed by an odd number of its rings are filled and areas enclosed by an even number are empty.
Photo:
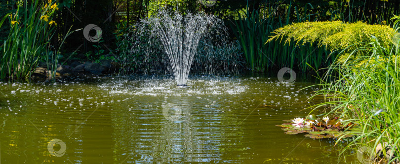
M5 19L9 20L11 26L7 39L1 45L0 79L30 76L57 26L53 21L57 6L51 0L44 4L34 0L27 3L25 8L18 6L15 13L4 16L0 26Z

